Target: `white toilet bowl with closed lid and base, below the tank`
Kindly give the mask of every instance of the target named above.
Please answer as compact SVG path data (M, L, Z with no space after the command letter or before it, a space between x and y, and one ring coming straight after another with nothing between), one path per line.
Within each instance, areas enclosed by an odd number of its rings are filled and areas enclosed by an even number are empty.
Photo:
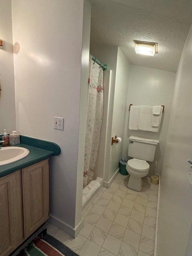
M130 174L128 188L141 191L143 186L142 178L149 173L149 164L145 160L133 158L127 162L126 170Z

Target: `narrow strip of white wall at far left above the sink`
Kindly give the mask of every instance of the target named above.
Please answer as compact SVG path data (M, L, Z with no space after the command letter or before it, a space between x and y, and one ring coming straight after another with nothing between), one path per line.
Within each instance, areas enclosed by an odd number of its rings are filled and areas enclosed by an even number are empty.
M0 134L16 129L11 0L0 1Z

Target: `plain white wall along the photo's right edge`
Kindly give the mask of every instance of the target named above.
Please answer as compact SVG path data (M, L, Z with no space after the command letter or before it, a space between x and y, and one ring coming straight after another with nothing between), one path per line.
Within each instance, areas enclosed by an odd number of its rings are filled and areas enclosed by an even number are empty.
M176 72L161 174L158 256L184 256L192 222L192 188L187 180L187 160L192 159L191 70L192 27Z

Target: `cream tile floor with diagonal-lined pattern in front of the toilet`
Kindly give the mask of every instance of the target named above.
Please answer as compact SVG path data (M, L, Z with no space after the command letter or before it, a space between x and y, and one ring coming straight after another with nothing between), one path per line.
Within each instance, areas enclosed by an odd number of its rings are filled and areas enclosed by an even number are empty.
M142 191L127 187L120 173L82 214L84 227L74 239L52 224L47 232L81 256L153 256L158 185L144 177Z

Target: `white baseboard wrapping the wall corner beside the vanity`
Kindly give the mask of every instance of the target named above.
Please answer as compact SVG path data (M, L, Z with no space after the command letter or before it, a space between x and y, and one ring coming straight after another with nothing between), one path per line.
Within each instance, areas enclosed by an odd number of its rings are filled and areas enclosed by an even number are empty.
M78 235L79 231L82 229L84 222L81 220L76 227L72 227L65 223L64 221L59 220L58 218L49 215L49 222L59 229L63 230L67 234L73 236L74 238Z

